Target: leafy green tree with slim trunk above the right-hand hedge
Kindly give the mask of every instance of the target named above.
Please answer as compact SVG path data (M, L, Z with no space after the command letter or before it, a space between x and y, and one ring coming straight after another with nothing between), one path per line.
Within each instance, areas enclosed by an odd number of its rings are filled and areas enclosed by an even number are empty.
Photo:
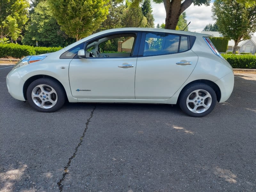
M235 41L233 54L238 43L250 39L256 31L256 4L246 6L232 0L216 0L212 12L219 32Z

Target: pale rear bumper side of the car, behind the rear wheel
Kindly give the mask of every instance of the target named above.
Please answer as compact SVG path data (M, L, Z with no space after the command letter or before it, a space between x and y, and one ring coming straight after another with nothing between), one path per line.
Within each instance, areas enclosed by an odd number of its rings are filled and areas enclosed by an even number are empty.
M231 72L228 75L222 77L218 81L215 81L215 83L219 86L221 97L220 97L220 103L225 102L230 97L233 88L234 88L234 73Z

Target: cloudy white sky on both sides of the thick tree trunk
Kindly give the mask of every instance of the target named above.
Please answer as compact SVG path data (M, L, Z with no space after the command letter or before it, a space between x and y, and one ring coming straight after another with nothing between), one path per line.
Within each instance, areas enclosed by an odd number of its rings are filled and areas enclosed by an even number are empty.
M191 21L191 23L188 26L188 30L192 31L192 32L198 32L200 33L201 31L203 31L204 27L209 24L212 23L214 24L215 21L212 20L212 5L213 3L210 4L210 6L194 6L193 4L190 5L188 7L188 9L185 10L186 15L187 15L187 21L189 23L189 21ZM166 17L166 13L165 13L165 9L164 9L164 4L155 4L153 1L151 1L151 6L152 6L152 10L153 10L153 15L155 18L155 27L157 25L157 23L159 23L160 25L162 23L165 23L165 17Z

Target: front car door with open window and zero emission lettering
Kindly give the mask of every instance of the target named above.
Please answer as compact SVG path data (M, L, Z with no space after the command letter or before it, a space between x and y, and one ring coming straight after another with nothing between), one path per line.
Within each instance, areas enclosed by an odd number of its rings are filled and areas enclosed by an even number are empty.
M69 82L78 99L135 99L134 79L140 33L109 34L85 42L86 58L69 65ZM137 48L136 48L137 47Z

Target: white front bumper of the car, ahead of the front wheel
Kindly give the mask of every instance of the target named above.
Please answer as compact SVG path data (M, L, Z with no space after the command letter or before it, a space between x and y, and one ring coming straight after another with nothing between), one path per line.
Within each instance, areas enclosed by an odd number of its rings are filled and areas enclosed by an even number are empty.
M12 69L12 71L6 76L6 84L8 92L14 99L25 101L23 95L24 81L20 77L17 69Z

